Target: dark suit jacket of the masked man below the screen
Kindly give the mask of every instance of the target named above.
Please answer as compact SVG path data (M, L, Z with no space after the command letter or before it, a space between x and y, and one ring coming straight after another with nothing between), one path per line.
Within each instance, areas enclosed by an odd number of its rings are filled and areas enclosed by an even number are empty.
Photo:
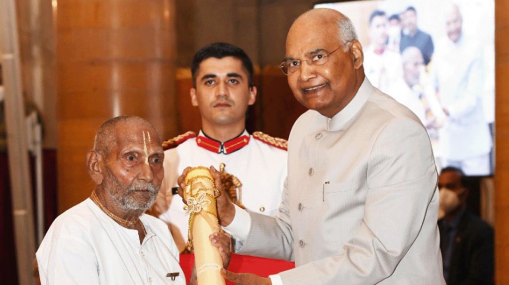
M441 223L438 225L442 233ZM492 227L465 211L453 241L447 284L493 285L493 243Z

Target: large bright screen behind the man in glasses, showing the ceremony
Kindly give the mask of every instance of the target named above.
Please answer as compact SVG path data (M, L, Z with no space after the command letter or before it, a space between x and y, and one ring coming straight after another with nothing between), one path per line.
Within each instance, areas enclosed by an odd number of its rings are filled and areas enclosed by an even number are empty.
M314 7L352 20L367 79L420 119L438 170L493 174L494 0L347 0Z

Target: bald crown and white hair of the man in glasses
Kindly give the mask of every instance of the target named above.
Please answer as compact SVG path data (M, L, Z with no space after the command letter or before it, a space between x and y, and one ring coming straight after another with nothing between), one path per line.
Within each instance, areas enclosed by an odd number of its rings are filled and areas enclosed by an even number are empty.
M317 30L335 30L342 44L358 39L352 21L341 12L328 8L312 9L300 15L292 24L288 37L292 33L301 33L303 29L309 29L310 26ZM345 45L343 50L348 50L348 46Z

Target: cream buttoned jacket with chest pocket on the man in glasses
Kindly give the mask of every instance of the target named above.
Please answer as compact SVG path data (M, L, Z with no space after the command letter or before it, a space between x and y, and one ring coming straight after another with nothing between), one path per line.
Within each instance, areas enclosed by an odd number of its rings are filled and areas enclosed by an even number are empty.
M442 284L437 172L410 110L365 80L332 119L302 115L289 145L277 219L237 209L226 228L239 253L295 258L285 285Z

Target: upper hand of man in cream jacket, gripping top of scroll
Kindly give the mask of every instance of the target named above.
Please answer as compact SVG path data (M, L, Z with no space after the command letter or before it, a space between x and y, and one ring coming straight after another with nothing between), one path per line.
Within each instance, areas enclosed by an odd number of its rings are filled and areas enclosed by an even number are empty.
M179 195L182 197L182 201L184 201L184 204L187 204L184 199L184 189L186 187L185 184L185 176L187 175L187 172L189 172L190 167L186 167L184 171L182 171L182 175L179 176L178 183L179 183ZM210 173L212 174L212 177L214 179L214 184L219 191L219 197L217 197L217 218L219 220L219 224L223 227L230 225L230 223L233 221L233 218L235 217L235 206L228 198L228 195L224 192L221 182L221 173L217 171L214 166L210 166Z

